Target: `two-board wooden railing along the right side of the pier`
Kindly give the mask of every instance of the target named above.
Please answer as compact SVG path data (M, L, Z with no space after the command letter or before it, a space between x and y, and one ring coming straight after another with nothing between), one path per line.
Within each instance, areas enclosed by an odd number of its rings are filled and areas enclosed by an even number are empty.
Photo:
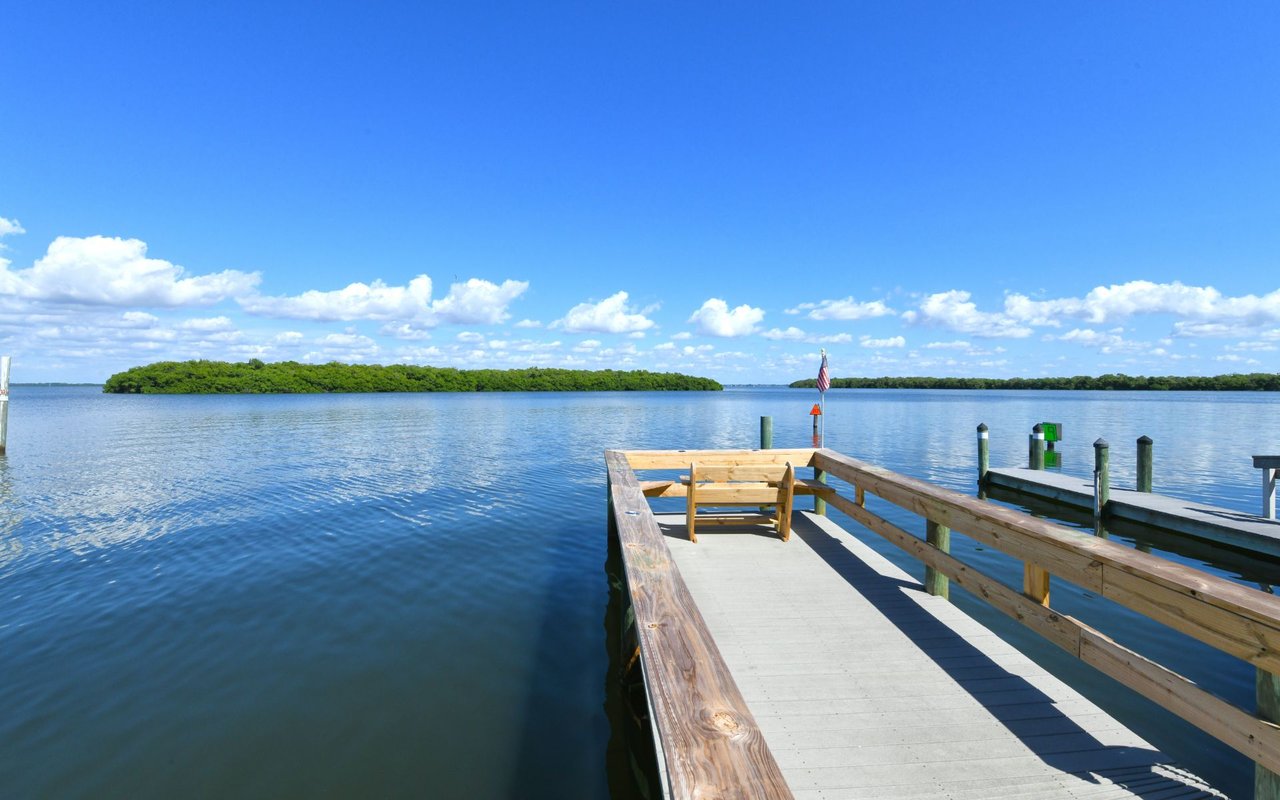
M1047 571L1272 673L1280 672L1280 598L835 451L818 451L813 466L854 485L854 499L827 497L836 508L1080 660L1280 772L1280 726L1055 612L1043 603L1047 582L1028 596L892 525L867 509L864 494L1014 556L1033 567L1029 576Z

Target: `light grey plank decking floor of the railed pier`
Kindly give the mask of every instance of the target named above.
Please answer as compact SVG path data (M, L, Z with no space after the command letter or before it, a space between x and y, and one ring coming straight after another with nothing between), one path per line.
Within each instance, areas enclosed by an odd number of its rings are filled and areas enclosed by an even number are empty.
M1221 796L826 517L655 517L796 797Z

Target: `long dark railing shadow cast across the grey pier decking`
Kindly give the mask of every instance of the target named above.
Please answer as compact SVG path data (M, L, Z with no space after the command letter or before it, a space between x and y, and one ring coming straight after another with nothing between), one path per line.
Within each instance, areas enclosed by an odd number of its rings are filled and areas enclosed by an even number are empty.
M792 532L1044 764L1091 783L1102 783L1105 777L1137 797L1165 797L1171 790L1198 788L1164 774L1160 768L1169 768L1171 762L1155 749L1098 741L1062 713L1052 698L919 605L911 593L923 593L920 584L881 575L806 517L796 516ZM965 666L948 667L957 662Z

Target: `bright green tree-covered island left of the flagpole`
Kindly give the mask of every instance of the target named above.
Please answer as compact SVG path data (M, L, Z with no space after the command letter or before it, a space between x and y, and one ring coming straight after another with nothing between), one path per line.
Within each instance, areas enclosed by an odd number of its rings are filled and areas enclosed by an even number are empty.
M709 378L645 370L456 370L365 364L160 361L111 375L115 394L314 394L325 392L718 392Z

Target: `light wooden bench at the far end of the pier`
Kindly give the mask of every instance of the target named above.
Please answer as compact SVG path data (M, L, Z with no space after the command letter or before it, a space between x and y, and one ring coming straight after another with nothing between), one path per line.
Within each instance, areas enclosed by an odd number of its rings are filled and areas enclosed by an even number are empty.
M758 525L768 522L783 541L791 538L791 502L795 495L796 471L785 465L714 465L694 462L689 475L680 476L685 485L685 525L689 540L698 541L696 526ZM698 507L756 506L772 507L773 513L736 513L714 517L698 516Z

